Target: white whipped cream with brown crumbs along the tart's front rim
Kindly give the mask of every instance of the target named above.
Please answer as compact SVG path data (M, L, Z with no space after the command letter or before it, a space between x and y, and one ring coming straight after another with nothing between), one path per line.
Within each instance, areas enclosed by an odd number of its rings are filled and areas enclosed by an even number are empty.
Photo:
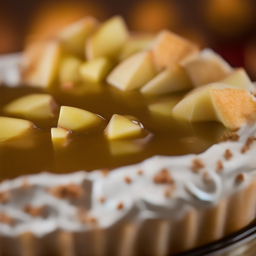
M107 173L42 172L4 180L0 194L7 192L9 198L0 202L0 213L13 223L0 222L0 234L31 231L40 237L58 228L86 231L120 221L179 219L191 206L214 205L256 176L256 143L253 139L248 143L248 137L256 135L256 124L243 125L236 133L237 141L214 144L201 154L156 155ZM82 193L76 196L75 187ZM54 194L54 188L62 189L62 194ZM43 212L33 216L24 210L26 205L43 206Z

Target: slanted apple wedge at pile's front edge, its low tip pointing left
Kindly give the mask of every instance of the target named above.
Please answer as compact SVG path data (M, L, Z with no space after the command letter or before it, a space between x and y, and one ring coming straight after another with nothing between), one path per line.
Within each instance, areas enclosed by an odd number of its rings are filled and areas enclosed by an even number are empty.
M166 68L149 80L140 92L143 94L162 94L193 87L188 75L180 65Z

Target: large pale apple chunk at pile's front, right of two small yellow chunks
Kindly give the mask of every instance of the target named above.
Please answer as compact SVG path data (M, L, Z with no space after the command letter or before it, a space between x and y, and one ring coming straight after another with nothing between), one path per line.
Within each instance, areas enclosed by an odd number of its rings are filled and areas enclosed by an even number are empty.
M121 90L143 86L156 75L150 51L137 52L120 62L106 77L106 81Z

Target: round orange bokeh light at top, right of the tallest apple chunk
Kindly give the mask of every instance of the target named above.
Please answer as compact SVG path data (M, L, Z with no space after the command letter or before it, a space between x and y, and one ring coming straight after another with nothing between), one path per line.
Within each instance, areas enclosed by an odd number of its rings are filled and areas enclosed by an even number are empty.
M156 32L162 28L173 29L178 24L176 6L171 1L137 1L129 13L131 29Z

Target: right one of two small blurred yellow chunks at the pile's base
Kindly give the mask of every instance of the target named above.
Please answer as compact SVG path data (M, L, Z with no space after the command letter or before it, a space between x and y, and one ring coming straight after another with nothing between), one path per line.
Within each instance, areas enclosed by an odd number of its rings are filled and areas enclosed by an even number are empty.
M99 57L84 62L79 67L79 73L84 81L100 82L113 68L113 63L106 57Z

